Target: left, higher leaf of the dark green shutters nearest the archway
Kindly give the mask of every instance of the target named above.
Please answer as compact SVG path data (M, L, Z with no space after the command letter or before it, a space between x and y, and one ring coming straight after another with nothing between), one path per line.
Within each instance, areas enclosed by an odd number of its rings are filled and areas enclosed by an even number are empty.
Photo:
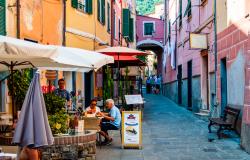
M129 9L122 10L122 36L129 37L129 19L130 11Z

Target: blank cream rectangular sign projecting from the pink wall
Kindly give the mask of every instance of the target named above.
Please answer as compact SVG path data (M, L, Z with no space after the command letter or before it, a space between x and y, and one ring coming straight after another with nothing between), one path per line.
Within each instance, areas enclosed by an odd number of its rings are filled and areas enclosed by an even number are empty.
M207 34L189 34L190 49L208 49Z

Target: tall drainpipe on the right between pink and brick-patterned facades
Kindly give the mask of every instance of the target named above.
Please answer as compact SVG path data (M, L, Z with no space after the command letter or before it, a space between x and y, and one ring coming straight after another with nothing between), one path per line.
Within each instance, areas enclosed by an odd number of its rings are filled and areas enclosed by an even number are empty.
M216 0L214 0L214 80L215 80L215 99L217 99L217 19L216 19Z

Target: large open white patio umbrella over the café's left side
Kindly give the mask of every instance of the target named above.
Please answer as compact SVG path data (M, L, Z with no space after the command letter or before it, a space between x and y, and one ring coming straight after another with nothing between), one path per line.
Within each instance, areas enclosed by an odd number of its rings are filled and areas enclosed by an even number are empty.
M10 70L12 73L15 69L41 68L88 72L113 62L113 57L93 51L0 36L0 71ZM12 107L14 111L14 100Z

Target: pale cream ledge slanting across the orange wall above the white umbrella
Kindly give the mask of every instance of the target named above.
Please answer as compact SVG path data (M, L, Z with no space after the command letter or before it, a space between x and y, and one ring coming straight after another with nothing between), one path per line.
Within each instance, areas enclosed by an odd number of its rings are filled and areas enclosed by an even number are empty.
M101 44L108 44L108 42L104 42L99 37L96 37L93 34L90 34L88 32L83 32L83 31L75 29L75 28L67 27L66 32L71 33L71 34L75 34L75 35L78 35L78 36L81 36L81 37L89 38L89 39L92 39L92 40L96 40L97 42L99 42Z

